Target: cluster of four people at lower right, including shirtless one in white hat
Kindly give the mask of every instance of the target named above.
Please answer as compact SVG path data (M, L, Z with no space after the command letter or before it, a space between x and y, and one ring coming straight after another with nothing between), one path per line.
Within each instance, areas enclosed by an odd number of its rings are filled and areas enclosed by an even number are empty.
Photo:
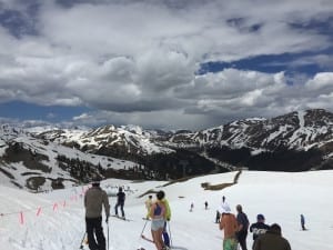
M256 222L250 226L248 216L241 204L236 207L238 214L231 212L225 197L222 198L220 230L224 231L223 250L236 250L238 243L242 250L248 250L248 230L253 233L253 250L291 250L289 241L282 237L281 227L278 223L268 226L263 214L256 216Z

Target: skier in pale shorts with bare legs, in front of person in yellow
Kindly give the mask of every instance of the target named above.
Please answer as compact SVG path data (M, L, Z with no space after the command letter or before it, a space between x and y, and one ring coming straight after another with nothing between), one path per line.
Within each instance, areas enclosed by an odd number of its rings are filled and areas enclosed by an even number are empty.
M167 249L162 239L164 223L165 223L165 204L163 203L164 192L159 191L157 193L157 200L151 206L150 218L151 218L151 236L157 250Z

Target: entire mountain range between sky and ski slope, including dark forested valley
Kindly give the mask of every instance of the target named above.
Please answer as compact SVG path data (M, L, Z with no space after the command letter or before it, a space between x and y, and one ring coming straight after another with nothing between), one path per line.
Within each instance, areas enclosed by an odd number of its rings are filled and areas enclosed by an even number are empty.
M201 131L138 126L0 128L0 178L19 187L61 188L95 176L178 179L250 170L332 169L333 114L322 110L251 118ZM281 164L283 162L283 164ZM18 183L17 174L24 176Z

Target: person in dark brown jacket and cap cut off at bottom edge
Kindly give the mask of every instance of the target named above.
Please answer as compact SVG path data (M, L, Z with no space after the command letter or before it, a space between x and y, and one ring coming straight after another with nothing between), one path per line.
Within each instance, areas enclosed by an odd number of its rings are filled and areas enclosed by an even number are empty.
M281 227L274 223L266 233L254 241L253 250L291 250L291 247L289 241L282 237Z

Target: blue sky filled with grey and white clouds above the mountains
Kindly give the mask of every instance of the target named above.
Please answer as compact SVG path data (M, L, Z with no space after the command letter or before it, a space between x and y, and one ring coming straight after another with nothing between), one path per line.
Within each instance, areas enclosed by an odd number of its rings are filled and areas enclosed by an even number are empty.
M332 0L0 0L2 119L202 129L332 100Z

